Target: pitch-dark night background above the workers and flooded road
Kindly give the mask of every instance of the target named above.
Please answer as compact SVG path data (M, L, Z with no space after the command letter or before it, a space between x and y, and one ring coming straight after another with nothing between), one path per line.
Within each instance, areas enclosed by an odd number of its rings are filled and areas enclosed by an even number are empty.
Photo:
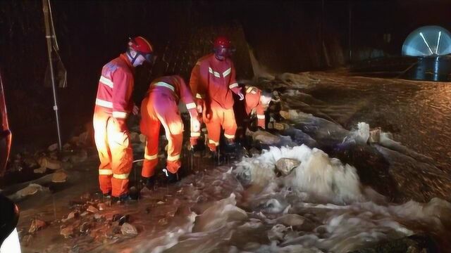
M158 53L167 41L177 43L197 27L235 20L262 63L276 71L296 72L323 66L318 46L322 17L323 38L335 41L347 56L350 7L354 51L378 48L399 55L404 38L419 26L440 25L451 30L451 1L447 0L324 1L324 12L322 1L51 4L61 57L68 70L69 87L60 94L66 138L74 126L89 122L101 66L124 50L130 35L148 37ZM0 69L16 139L29 140L25 135L30 132L53 133L51 89L43 85L47 48L42 2L1 1L0 33ZM383 42L385 33L392 37L388 44Z

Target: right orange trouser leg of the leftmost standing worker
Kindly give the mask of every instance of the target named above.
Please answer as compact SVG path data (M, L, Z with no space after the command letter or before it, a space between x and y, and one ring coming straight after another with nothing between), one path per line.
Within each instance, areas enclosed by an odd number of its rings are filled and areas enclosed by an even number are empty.
M110 118L106 126L111 150L111 195L120 197L128 193L128 174L132 169L133 153L128 131L119 131L115 119Z

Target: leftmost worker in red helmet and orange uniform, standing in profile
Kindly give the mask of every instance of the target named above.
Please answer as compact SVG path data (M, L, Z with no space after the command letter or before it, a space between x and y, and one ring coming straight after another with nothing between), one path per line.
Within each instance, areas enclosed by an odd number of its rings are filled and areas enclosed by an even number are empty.
M152 62L152 44L143 37L130 39L128 50L101 70L94 108L94 139L99 152L99 183L104 196L127 200L128 174L133 153L125 119L137 115L132 102L135 67Z

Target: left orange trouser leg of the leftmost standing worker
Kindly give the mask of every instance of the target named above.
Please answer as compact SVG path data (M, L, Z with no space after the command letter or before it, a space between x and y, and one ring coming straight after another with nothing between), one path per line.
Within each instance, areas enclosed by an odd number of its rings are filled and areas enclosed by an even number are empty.
M102 193L111 193L111 153L109 150L106 124L109 115L100 107L94 109L94 140L99 153L99 186ZM108 173L106 173L108 172ZM110 173L111 172L111 173Z

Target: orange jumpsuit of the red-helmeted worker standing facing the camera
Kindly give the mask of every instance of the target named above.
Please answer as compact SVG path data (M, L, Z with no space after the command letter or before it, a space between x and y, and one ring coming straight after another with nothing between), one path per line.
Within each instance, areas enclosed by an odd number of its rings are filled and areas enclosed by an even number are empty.
M191 72L190 87L197 98L197 104L203 105L202 119L208 131L210 150L216 151L221 136L229 140L235 138L237 124L233 113L233 93L240 93L235 79L235 67L232 60L217 60L214 53L200 58ZM199 133L192 132L192 138Z

